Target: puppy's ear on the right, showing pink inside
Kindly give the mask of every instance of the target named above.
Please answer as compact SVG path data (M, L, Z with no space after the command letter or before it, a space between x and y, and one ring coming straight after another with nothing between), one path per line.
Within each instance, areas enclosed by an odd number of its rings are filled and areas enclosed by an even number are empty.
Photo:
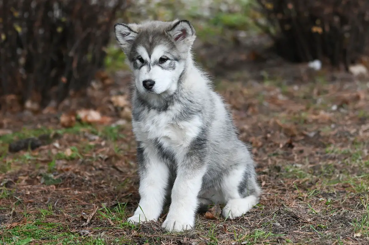
M196 38L195 29L188 20L173 21L173 25L167 33L173 42L187 49L192 46Z

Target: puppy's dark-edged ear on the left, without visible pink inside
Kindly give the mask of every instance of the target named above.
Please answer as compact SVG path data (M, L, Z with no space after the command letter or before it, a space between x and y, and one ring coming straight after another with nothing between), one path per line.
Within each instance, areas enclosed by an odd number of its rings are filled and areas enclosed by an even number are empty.
M137 25L117 23L114 25L114 32L119 46L125 53L129 52L138 34Z

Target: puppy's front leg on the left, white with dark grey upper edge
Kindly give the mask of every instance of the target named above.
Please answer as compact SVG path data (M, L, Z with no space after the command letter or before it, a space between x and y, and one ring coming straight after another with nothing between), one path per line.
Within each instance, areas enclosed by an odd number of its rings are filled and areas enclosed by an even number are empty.
M141 197L134 215L128 218L132 223L157 220L160 216L169 180L169 168L150 146L145 148L138 143L137 159L139 165Z

